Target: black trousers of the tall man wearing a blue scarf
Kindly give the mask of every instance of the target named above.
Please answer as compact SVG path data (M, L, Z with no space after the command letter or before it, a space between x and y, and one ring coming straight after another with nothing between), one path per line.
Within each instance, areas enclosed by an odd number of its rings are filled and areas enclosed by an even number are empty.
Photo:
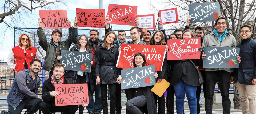
M213 111L213 94L217 79L219 80L219 88L222 96L222 108L224 114L230 114L231 102L229 99L229 81L230 72L227 71L205 71L206 97L205 112L211 114Z

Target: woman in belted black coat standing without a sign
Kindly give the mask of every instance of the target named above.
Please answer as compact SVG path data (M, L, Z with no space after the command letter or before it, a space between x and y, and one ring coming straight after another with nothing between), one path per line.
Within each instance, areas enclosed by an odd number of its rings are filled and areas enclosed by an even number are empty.
M116 91L119 75L121 75L120 69L116 68L118 59L118 49L113 45L115 40L115 32L111 31L105 35L103 45L101 45L95 55L96 58L96 84L101 84L101 104L103 114L108 114L107 109L107 85L110 90L110 114L115 114L116 108ZM117 83L118 82L118 83Z

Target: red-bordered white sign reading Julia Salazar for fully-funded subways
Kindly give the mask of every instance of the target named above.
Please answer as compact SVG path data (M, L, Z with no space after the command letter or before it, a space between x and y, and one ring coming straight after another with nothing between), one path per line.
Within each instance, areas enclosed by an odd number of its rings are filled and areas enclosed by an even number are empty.
M159 16L161 17L160 24L178 23L177 8L159 10Z

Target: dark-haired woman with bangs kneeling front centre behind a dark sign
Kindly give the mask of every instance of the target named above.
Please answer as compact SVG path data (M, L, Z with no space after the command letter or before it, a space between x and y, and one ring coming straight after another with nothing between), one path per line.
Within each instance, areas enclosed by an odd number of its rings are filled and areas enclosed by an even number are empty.
M146 66L145 55L142 53L137 53L133 58L134 67L144 67ZM154 74L157 78L158 74ZM119 76L119 81L121 83L122 77ZM151 89L154 86L139 87L132 89L125 89L125 94L127 97L126 114L157 114L157 107L155 106L155 100ZM146 109L144 109L146 107Z

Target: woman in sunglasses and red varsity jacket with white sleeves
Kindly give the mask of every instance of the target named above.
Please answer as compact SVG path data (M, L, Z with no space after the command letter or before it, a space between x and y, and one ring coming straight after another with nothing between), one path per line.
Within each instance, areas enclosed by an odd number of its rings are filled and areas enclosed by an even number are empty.
M34 58L41 60L42 57L37 48L31 47L31 45L29 35L21 34L19 36L19 46L12 48L7 58L11 70L18 73L20 70L29 69L30 62Z

